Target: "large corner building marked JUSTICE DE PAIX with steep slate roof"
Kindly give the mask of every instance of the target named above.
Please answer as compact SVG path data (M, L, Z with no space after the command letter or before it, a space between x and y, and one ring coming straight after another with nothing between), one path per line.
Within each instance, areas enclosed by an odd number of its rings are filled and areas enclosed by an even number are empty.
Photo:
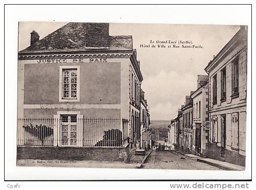
M18 52L17 157L129 156L140 142L142 80L132 36L110 36L108 23L68 23L41 40L31 32Z

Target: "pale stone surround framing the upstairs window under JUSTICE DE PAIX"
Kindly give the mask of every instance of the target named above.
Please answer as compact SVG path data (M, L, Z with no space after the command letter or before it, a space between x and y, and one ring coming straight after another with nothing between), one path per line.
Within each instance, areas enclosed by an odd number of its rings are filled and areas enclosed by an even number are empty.
M64 98L63 97L63 70L64 69L76 69L76 98ZM70 86L71 87L71 86ZM80 65L62 65L59 66L59 102L79 102L80 101Z

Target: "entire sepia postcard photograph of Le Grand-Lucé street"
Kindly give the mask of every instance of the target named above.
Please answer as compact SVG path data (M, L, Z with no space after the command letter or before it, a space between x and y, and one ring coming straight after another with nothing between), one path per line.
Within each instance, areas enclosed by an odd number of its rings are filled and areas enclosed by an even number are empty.
M17 166L244 171L247 35L19 22Z

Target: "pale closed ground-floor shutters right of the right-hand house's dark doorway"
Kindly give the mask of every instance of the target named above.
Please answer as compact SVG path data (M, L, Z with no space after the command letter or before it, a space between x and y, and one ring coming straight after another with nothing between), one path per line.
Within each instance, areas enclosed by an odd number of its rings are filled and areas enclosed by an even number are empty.
M231 114L231 134L232 134L232 148L239 150L239 118L238 113Z

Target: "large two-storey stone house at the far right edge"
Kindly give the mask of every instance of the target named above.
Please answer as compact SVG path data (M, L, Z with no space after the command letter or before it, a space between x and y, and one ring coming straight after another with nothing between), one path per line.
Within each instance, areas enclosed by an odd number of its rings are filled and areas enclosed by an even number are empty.
M210 158L245 166L247 27L204 69L209 74Z

